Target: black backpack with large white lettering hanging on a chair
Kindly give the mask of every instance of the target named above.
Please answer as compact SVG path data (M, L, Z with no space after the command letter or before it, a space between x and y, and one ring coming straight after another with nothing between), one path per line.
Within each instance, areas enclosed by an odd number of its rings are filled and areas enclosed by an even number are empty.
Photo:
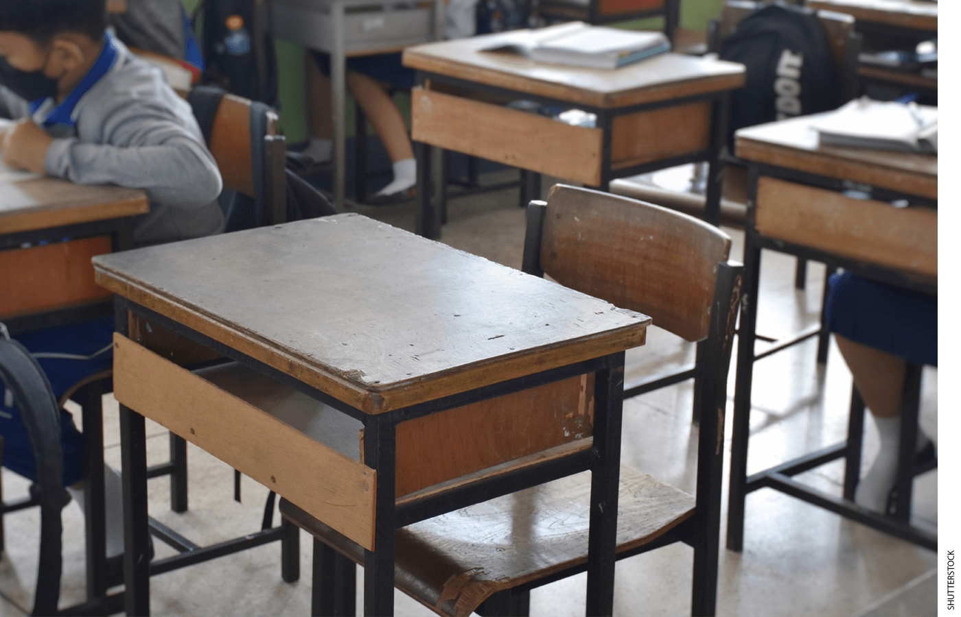
M828 111L843 100L839 72L815 12L770 5L745 17L721 43L721 59L747 67L730 99L727 148L734 131L764 122Z

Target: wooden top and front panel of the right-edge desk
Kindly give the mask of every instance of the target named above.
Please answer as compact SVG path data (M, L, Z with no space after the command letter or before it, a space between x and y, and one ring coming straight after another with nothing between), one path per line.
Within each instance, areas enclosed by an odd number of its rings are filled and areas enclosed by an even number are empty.
M736 133L737 155L753 163L842 180L841 187L938 199L938 157L820 146L812 116ZM851 199L762 167L754 228L763 236L937 280L938 211Z

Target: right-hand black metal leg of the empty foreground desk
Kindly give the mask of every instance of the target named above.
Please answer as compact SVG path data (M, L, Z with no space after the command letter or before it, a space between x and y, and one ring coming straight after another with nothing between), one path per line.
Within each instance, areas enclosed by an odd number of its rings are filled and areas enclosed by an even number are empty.
M617 500L621 471L621 414L624 352L617 364L596 373L594 453L591 470L591 519L587 540L587 615L614 613L614 564Z

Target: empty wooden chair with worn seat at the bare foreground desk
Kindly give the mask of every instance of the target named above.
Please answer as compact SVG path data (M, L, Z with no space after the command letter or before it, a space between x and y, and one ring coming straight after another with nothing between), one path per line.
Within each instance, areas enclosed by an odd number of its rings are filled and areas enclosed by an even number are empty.
M528 209L526 273L547 273L702 342L697 496L622 465L617 531L618 558L676 541L694 548L696 615L714 614L716 602L727 368L741 280L729 249L716 227L600 191L556 185L548 202ZM583 571L589 495L589 474L577 474L400 529L396 585L440 615L527 614L530 588ZM312 614L354 614L362 549L284 500L281 513L315 538Z

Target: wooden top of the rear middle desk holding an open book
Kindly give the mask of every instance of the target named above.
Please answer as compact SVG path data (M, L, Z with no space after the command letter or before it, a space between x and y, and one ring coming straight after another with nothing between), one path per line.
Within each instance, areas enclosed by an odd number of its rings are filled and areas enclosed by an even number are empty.
M537 32L547 32L544 28ZM404 51L404 65L468 82L592 107L627 107L744 85L744 65L682 54L661 54L613 70L534 62L481 51L495 42L530 36L519 30L424 43Z

